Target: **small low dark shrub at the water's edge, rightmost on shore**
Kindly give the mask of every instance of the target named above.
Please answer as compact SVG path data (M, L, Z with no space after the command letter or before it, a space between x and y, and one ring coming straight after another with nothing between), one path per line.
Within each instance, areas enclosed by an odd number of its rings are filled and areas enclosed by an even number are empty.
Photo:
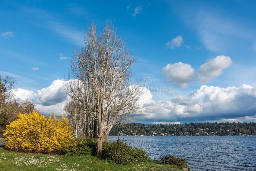
M182 159L178 156L175 157L173 155L167 155L167 156L160 157L160 163L168 164L168 165L175 165L180 168L182 168L182 167L188 168L186 159ZM190 169L188 168L188 170L190 170Z

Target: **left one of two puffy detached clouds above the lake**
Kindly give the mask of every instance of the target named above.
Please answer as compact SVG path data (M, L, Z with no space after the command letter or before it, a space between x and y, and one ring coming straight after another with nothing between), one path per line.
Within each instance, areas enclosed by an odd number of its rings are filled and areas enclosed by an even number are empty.
M195 79L195 70L187 63L167 64L162 68L163 74L169 83L175 83L181 88L186 88L188 83Z

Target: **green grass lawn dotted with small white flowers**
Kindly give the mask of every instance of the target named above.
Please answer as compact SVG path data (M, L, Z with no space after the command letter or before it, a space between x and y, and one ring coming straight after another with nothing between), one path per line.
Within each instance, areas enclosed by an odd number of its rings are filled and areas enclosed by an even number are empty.
M47 154L23 154L9 152L0 147L0 170L176 170L175 166L158 164L155 161L134 163L131 165L113 164L109 160L95 156L60 156Z

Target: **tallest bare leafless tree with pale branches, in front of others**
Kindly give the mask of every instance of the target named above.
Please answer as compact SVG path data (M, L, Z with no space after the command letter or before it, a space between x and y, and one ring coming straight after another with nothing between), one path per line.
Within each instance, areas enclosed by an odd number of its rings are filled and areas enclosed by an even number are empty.
M76 81L70 81L67 92L82 104L82 113L97 120L98 156L112 126L126 122L139 109L140 82L132 82L130 70L136 60L125 47L110 22L102 33L92 24L84 33L84 48L80 52L74 48L71 60Z

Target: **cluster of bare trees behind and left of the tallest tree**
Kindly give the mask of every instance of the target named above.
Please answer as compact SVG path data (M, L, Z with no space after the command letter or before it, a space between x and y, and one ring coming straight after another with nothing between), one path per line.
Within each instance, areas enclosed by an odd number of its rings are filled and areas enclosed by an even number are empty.
M91 110L92 96L88 92L88 82L69 78L67 93L70 100L64 110L78 138L97 138L98 121Z

